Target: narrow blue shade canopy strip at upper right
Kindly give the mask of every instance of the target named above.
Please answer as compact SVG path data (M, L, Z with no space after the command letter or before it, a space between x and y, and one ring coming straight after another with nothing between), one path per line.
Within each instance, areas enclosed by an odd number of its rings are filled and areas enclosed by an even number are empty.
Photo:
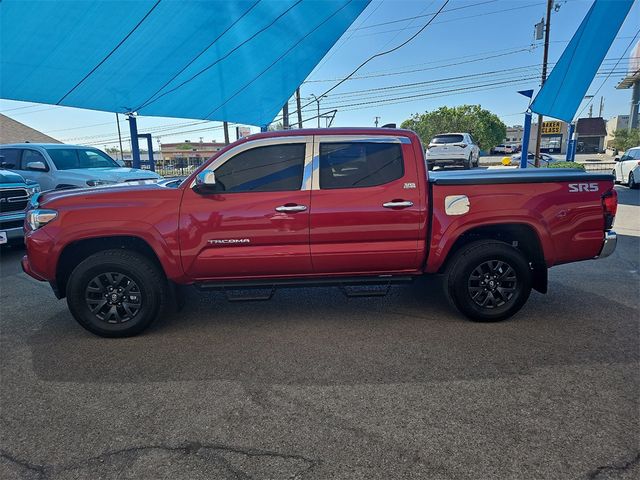
M633 0L595 0L531 104L531 110L573 120Z

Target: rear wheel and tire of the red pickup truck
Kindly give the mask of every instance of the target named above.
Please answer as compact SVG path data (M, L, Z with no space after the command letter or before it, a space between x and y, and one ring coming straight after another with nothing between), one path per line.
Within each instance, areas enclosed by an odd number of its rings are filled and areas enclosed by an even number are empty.
M517 248L496 240L464 246L445 274L451 302L478 322L498 322L516 314L529 298L531 284L526 257Z

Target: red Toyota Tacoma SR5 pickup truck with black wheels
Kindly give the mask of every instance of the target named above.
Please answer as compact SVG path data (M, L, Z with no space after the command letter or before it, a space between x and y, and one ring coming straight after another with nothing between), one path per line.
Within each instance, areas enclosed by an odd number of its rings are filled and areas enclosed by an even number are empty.
M179 284L272 289L443 274L464 315L497 321L532 288L546 292L549 267L611 254L616 208L609 174L428 172L411 131L270 132L229 145L174 188L34 197L22 265L67 297L83 327L109 337L141 332Z

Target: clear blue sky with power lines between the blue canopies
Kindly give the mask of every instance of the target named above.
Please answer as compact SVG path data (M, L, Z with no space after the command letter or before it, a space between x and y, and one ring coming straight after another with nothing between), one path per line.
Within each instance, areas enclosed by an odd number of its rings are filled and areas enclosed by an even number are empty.
M303 118L316 115L312 95L321 96L371 55L401 44L442 5L443 0L373 0L301 86ZM551 15L549 65L558 60L591 6L590 0L558 0ZM438 18L401 49L376 58L320 101L321 113L337 108L332 126L400 125L415 113L441 106L480 104L507 125L523 122L527 100L517 91L540 86L543 41L534 25L544 17L546 0L452 0ZM413 18L412 18L413 17ZM616 90L638 41L640 1L631 8L587 95L600 98L603 117L628 114L631 91ZM627 53L625 54L625 50ZM588 115L589 100L580 107ZM290 111L295 103L290 101ZM580 112L579 110L579 112ZM0 112L65 143L113 148L118 144L114 113L0 100ZM129 149L128 124L120 128ZM295 117L291 122L295 122ZM322 126L327 120L321 121ZM316 126L316 120L304 123ZM157 143L222 141L220 122L139 117L138 130ZM253 128L258 131L258 128ZM231 133L234 139L234 133ZM157 145L156 143L156 145ZM141 146L145 146L142 145Z

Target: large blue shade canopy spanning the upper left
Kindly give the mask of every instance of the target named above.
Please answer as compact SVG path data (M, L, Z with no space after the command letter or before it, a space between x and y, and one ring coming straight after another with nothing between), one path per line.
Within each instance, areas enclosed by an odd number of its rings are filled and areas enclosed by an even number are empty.
M4 0L0 97L264 125L370 0Z

